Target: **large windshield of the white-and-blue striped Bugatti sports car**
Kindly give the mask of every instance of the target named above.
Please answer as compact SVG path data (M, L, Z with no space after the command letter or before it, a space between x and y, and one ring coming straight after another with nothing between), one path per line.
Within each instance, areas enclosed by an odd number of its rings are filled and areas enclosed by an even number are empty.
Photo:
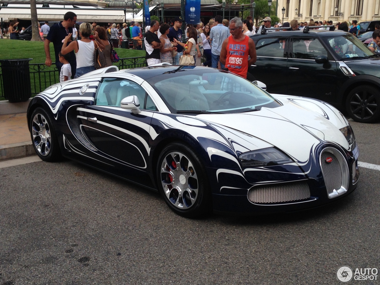
M218 70L178 70L148 81L173 113L230 114L281 106L252 82Z

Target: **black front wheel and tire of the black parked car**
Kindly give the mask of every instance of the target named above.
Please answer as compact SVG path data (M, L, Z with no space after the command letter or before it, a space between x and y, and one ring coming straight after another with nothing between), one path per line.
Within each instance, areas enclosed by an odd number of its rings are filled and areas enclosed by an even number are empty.
M347 96L348 115L360 123L374 123L380 119L380 90L362 85L355 87Z

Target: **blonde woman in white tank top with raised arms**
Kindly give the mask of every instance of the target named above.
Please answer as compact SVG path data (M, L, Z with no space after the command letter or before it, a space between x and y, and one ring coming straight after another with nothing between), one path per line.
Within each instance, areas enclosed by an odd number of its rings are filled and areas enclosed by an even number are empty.
M78 78L79 76L86 74L90 71L95 70L94 67L94 52L95 52L95 44L92 40L89 39L89 36L92 33L92 26L90 23L82 23L79 26L79 35L81 36L81 40L79 41L71 41L69 45L67 45L68 41L71 38L71 33L69 33L65 40L63 40L63 46L61 49L62 54L68 54L71 51L75 52L76 57L76 74L74 78ZM97 41L99 47L104 49L104 44L98 40L98 37L94 35L95 40Z

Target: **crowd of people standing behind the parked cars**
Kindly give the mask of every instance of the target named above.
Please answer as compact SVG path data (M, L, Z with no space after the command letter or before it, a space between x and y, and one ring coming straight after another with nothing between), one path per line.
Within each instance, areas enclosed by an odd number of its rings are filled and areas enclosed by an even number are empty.
M141 49L144 40L148 66L162 62L179 65L182 58L188 59L190 56L194 65L225 69L246 77L248 66L256 61L255 44L249 38L255 35L256 30L257 33L261 33L264 27L273 28L267 32L303 30L309 27L310 30L338 29L355 36L358 36L360 31L357 21L352 21L352 25L348 26L347 22L332 25L332 21L318 22L311 19L309 22L299 23L294 19L290 22L275 23L273 26L271 17L265 17L262 25L256 28L252 17L247 17L244 21L235 17L228 21L217 15L207 24L203 22L188 24L186 38L182 38L184 21L181 17L175 17L170 24L153 20L146 27L143 39L141 25L138 22L131 21L129 25L123 23L121 27L116 23L101 27L97 22L92 24L83 22L77 30L76 20L75 13L67 12L62 22L49 26L49 22L46 21L41 27L39 24L40 36L45 42L45 64L47 66L52 64L49 44L53 42L60 81L70 80L71 77L77 78L95 70L94 53L97 46L106 55L106 66L111 66L112 47L120 47L120 40L134 40L137 49ZM25 30L22 27L19 31L18 24L18 22L9 22L8 29L4 33L9 33L11 39L16 38L16 33ZM380 54L380 27L376 25L375 28L369 48ZM205 59L204 63L202 57Z

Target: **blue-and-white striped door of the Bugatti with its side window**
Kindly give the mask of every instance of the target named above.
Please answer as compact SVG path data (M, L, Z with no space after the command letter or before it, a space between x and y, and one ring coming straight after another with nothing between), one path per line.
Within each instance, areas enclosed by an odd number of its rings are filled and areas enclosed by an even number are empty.
M120 107L121 100L131 95L139 99L139 114ZM141 173L149 169L149 129L154 111L154 102L138 83L115 77L103 78L94 104L86 106L84 130L99 159L114 166L115 174L140 179L141 184L147 179Z

